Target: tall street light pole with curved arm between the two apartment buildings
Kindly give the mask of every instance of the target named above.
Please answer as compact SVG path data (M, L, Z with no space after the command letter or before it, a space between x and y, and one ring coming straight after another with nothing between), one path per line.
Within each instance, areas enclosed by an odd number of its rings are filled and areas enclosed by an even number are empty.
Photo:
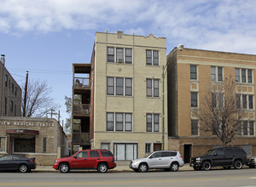
M167 66L169 65L169 63L171 62L172 57L174 56L174 54L179 50L182 51L184 48L183 45L178 45L177 48L175 48L175 50L173 50L171 58L169 59L169 61L166 63L166 66L163 65L163 71L162 71L162 150L165 150L165 71L167 69Z

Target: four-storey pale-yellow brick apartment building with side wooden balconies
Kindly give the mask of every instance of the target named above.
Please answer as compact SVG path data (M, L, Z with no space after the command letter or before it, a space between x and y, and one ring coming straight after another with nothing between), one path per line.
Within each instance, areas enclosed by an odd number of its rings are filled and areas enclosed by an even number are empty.
M117 161L160 150L162 65L166 38L96 32L90 65L73 64L73 145ZM167 130L164 140L167 149Z

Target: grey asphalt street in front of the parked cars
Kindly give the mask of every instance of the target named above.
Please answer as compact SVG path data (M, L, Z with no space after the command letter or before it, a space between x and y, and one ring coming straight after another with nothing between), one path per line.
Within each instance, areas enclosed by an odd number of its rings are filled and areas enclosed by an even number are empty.
M148 173L0 173L1 186L247 186L256 187L256 169L214 169Z

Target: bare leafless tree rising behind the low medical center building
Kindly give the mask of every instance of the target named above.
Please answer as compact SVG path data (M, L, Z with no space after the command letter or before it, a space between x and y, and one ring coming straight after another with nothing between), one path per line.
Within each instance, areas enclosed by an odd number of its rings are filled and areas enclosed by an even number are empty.
M42 117L51 109L56 110L60 105L55 104L54 99L50 97L52 88L48 87L47 82L31 81L27 84L26 94L26 116ZM24 114L25 86L22 88L21 112Z

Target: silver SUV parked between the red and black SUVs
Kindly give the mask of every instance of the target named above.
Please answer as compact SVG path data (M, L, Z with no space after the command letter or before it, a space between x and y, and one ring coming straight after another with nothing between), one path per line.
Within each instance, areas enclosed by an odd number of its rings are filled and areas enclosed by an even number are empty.
M130 162L129 167L135 172L147 172L148 169L165 169L165 171L177 172L183 167L183 156L176 150L159 150L150 153L141 159Z

